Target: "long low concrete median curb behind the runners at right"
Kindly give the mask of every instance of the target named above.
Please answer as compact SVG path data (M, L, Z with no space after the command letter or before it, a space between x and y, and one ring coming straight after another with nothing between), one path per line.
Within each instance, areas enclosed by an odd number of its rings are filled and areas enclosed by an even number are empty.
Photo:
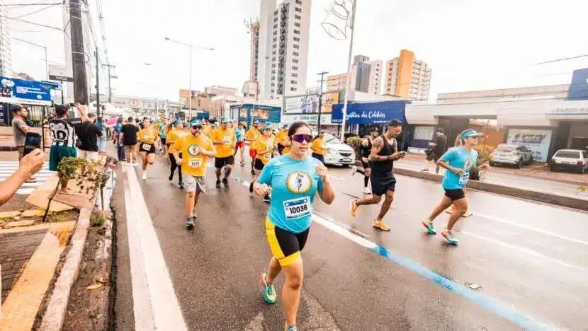
M443 180L443 176L441 175L423 173L421 171L408 170L403 168L394 168L394 173L397 175L405 175L424 180L431 180L432 182L441 182L441 180ZM496 185L491 184L489 182L478 182L477 180L470 180L470 182L468 182L468 189L503 194L509 197L518 197L521 199L543 202L545 204L555 204L556 206L588 211L588 200L576 197L562 196L548 192L525 190L519 187Z

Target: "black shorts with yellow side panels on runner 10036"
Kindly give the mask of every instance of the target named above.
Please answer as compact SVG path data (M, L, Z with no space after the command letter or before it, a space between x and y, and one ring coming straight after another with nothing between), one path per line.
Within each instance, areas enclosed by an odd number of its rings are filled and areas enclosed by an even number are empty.
M309 231L310 228L307 228L301 233L285 231L283 228L278 228L273 225L266 218L266 236L269 248L273 257L276 257L276 260L278 260L282 267L286 267L300 260L300 252L306 245Z

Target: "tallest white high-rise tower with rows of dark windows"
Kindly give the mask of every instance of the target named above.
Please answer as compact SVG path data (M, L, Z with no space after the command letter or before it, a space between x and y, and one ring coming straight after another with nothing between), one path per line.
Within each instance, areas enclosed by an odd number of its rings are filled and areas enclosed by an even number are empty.
M311 0L261 0L257 81L261 98L306 89Z

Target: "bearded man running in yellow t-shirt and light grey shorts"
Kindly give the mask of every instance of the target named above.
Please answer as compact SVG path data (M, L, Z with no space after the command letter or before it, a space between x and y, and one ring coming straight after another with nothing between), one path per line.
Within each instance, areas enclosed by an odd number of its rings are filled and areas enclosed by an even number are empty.
M190 134L177 140L173 146L174 158L181 165L184 176L184 185L186 185L186 214L188 221L186 226L194 227L194 221L198 215L194 213L196 202L200 192L206 192L206 158L213 158L216 155L213 141L200 133L202 122L200 120L191 120ZM182 156L180 158L180 153Z

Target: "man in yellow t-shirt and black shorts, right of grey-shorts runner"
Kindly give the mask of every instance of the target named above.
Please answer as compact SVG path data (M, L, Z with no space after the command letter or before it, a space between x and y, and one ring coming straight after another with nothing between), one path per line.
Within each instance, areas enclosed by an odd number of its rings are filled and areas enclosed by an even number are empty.
M234 165L233 149L237 137L233 129L229 127L229 120L226 117L220 119L220 128L213 131L213 144L216 147L216 187L220 188L220 169L225 168L225 177L222 178L222 185L229 188L229 175Z

